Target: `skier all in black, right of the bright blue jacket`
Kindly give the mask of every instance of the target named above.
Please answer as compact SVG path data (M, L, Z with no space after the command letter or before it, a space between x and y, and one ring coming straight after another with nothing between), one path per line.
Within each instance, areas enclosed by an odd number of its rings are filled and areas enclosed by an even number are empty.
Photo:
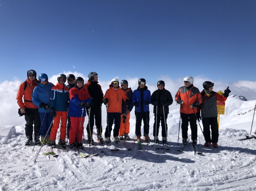
M158 143L158 132L160 127L162 127L162 140L163 144L167 141L167 116L169 114L169 106L172 104L173 99L171 93L164 88L164 81L160 80L157 82L158 89L154 91L151 95L151 104L154 106L153 113L155 114L155 122L153 127L153 136L155 143ZM166 129L165 129L166 126Z

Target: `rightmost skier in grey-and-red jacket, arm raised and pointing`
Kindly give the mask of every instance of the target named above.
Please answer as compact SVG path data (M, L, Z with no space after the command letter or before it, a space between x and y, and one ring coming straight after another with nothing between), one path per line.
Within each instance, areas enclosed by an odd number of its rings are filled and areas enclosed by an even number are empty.
M206 81L203 83L202 103L198 107L198 117L202 119L203 124L203 134L205 137L204 146L209 147L212 143L214 148L218 148L218 139L219 139L219 126L218 126L218 110L217 110L217 101L225 102L229 93L231 92L227 87L223 95L219 95L217 92L214 92L213 89L214 83ZM201 115L200 117L200 109ZM210 131L211 126L211 131Z

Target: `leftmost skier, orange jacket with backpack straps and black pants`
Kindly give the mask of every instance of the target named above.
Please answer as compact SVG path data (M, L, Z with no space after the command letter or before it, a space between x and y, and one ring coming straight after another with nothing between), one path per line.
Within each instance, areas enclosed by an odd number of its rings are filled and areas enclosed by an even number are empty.
M34 141L35 144L40 143L40 117L38 112L38 107L32 103L32 92L37 86L37 73L35 70L27 71L27 79L25 82L22 82L18 93L17 93L17 103L20 107L19 114L20 116L25 115L26 125L25 125L25 135L27 136L26 146L32 143L33 135L33 124L34 124ZM24 102L22 100L24 98Z

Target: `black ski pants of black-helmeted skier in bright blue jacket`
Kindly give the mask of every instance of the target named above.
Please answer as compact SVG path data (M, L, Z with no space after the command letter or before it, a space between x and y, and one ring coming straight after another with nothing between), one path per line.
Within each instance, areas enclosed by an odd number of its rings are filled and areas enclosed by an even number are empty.
M136 136L141 136L141 123L143 120L143 136L149 134L149 111L148 112L135 112L136 116L136 126L135 126L135 134Z

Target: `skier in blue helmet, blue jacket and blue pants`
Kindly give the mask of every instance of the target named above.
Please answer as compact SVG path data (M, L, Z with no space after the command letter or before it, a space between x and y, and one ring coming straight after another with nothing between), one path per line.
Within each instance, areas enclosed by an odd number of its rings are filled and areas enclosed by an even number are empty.
M48 131L53 117L50 115L50 92L54 84L49 84L48 76L46 74L40 74L39 82L37 87L34 88L32 93L32 102L34 105L38 107L38 112L41 120L41 143L50 143L50 133L51 130ZM48 131L48 134L46 135ZM46 140L44 141L46 136ZM43 142L44 141L44 142Z

